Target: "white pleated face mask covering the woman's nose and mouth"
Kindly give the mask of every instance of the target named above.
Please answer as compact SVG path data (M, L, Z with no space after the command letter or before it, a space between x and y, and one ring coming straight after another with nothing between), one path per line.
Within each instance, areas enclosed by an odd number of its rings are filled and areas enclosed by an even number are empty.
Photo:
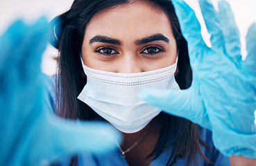
M145 88L180 90L174 78L176 64L142 73L112 73L88 68L81 60L87 84L78 99L123 133L140 131L161 112L140 100L139 91Z

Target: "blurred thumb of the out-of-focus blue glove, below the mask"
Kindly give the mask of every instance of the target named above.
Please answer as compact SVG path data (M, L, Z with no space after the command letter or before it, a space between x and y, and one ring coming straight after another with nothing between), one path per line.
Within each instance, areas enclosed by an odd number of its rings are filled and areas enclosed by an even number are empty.
M77 151L105 153L117 148L117 142L122 141L120 131L106 122L58 120L52 124L56 126L51 127L56 138L65 140L65 142L58 141L60 148L72 153ZM71 146L65 146L67 142Z

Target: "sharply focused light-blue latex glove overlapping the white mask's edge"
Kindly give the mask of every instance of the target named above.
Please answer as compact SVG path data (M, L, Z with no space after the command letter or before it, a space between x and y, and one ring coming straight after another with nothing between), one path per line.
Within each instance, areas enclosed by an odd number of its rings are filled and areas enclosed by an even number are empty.
M201 37L194 11L184 1L173 0L188 42L191 87L181 92L145 89L140 98L212 130L214 145L225 156L256 158L256 24L248 30L248 56L242 61L239 30L229 4L220 1L216 12L210 1L199 2L212 48Z

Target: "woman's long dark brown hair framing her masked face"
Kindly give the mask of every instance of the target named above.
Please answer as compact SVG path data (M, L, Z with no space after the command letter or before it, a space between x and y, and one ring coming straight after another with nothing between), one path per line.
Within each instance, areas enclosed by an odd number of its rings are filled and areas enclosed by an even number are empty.
M180 89L187 89L191 85L192 73L189 64L187 42L180 31L180 24L175 10L169 0L144 0L152 3L155 8L165 12L171 21L173 35L176 38L178 55L178 73L176 81ZM77 100L87 80L80 63L80 51L83 44L85 27L89 20L105 8L114 8L129 0L76 0L70 10L60 15L58 27L61 27L53 37L53 45L59 49L58 72L56 77L56 113L62 118L93 120L98 116L84 102ZM151 155L154 159L162 154L170 136L173 138L173 151L167 165L174 165L179 158L187 158L187 165L196 163L196 156L209 162L204 156L198 125L167 113L160 113L157 117L162 122L160 138ZM77 157L71 158L70 165L76 165Z

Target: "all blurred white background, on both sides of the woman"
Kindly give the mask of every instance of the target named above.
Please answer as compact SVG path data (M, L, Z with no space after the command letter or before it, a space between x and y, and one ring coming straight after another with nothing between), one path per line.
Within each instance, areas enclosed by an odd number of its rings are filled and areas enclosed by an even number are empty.
M202 33L207 44L209 35L205 28L203 17L200 15L200 8L197 0L185 0L191 8L196 12L196 15L202 26ZM219 0L212 0L214 6L217 6ZM255 0L228 0L234 11L234 17L237 21L242 43L242 55L246 57L245 39L247 29L253 21L256 21L256 1ZM38 17L46 15L49 21L68 10L73 0L1 0L0 3L0 34L15 19L25 19L28 23L35 21ZM52 46L48 46L44 52L42 61L42 71L48 75L52 75L56 70L56 63L53 58L58 54L57 50Z

